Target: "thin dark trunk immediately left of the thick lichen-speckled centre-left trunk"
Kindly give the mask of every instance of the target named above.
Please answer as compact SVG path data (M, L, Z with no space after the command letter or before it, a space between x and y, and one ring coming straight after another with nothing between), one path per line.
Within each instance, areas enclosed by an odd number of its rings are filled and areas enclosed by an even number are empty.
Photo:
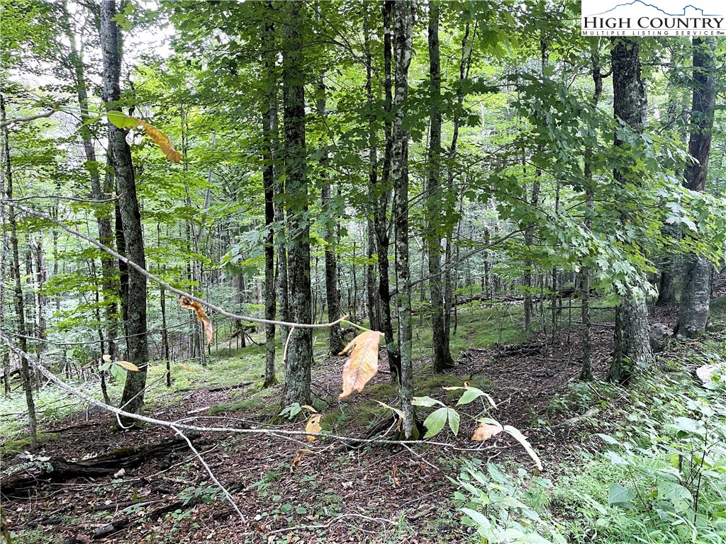
M272 2L267 3L272 9ZM264 131L264 170L262 178L265 191L265 318L274 319L277 312L277 298L274 285L274 156L277 152L277 77L274 73L275 51L274 22L266 20L262 35L262 50L265 55L265 72L268 92L262 104L262 129ZM242 335L245 334L241 331ZM263 387L271 387L277 380L274 375L274 324L265 323L265 381Z

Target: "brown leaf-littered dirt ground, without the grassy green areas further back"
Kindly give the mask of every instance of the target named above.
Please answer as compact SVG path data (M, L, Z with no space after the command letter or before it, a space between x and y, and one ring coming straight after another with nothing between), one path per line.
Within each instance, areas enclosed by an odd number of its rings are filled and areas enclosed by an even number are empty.
M672 326L674 316L673 308L658 308L653 321ZM608 323L592 329L597 378L604 378L607 372L612 334ZM566 397L568 384L579 376L580 350L581 339L574 327L561 331L554 341L540 334L520 346L471 350L457 361L452 381L461 384L475 376L491 382L487 392L499 403L491 416L529 437L542 458L545 475L552 478L558 466L568 459L574 461L582 449L600 448L593 437L597 429L589 428L587 420L575 425L567 421L572 414L551 409L552 401ZM385 370L385 355L383 358L381 368ZM340 411L337 392L342 363L342 358L331 358L314 367L314 394L330 410ZM427 363L416 362L419 367ZM389 378L380 373L372 383ZM166 420L204 416L207 407L228 402L229 394L208 389L187 392L182 403L157 408L149 415ZM432 396L444 398L443 391ZM369 397L364 390L351 398L346 409ZM378 400L395 402L394 398ZM473 411L473 404L462 408ZM228 419L198 422L249 427L264 421L258 413L216 417ZM59 438L43 442L36 455L81 460L174 436L171 430L155 426L113 432L114 424L115 417L106 413L91 413L87 420L85 412L78 413L57 425ZM300 430L303 425L298 421L274 428ZM452 503L455 486L447 478L457 477L460 458L515 460L534 469L529 456L511 438L498 435L487 442L471 442L475 426L474 421L462 418L458 437L448 429L436 437L436 442L446 442L449 447L345 448L333 440L318 441L314 444L318 449L302 456L297 466L293 461L304 448L300 442L231 432L196 437L195 448L234 496L244 522L208 482L207 472L188 449L150 457L118 477L39 482L30 490L5 497L3 507L11 529L36 528L33 538L43 540L30 542L38 543L464 542L471 529L460 522L461 514ZM346 427L348 436L360 437L367 431ZM26 461L4 459L3 469Z

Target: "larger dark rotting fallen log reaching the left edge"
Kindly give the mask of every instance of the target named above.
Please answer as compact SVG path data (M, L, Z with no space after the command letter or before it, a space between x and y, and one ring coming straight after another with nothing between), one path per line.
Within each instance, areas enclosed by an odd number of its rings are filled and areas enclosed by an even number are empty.
M197 437L199 437L198 434L190 435L189 440ZM15 470L7 477L0 479L0 490L2 495L10 496L32 489L40 482L66 482L78 477L111 476L119 469L133 469L144 461L187 448L186 440L181 437L173 437L136 448L119 448L86 461L65 461L53 458L46 458L44 461L30 461L23 463L22 468Z

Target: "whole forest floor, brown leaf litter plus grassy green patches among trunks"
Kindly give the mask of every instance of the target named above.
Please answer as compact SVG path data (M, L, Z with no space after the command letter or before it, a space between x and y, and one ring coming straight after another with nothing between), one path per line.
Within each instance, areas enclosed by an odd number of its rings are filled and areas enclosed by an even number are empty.
M579 329L575 323L568 325L579 309L563 309L556 334L542 332L529 338L516 325L518 310L506 311L505 318L497 314L497 325L492 310L460 310L456 345L470 347L454 354L459 355L457 364L444 375L433 374L430 358L420 352L415 394L453 406L457 392L443 387L469 382L486 391L497 403L489 416L521 430L542 459L542 476L556 482L582 466L584 458L597 456L603 448L597 433L616 428L627 413L630 399L624 390L603 381L611 358L613 313L605 309L596 315L592 345L597 381L584 383L577 382ZM673 326L676 315L677 308L666 307L657 308L652 317ZM428 341L423 325L417 334L419 345ZM492 342L492 328L497 329L494 337L504 342ZM506 343L507 339L515 341ZM383 371L362 394L340 401L343 358L323 357L324 340L322 336L316 340L319 352L313 375L322 428L351 437L386 428L390 413L377 401L395 405L396 393L390 375L383 372L388 368L385 355L380 363ZM167 390L158 383L150 387L147 414L165 420L195 417L199 424L230 427L269 421L280 411L282 389L259 388L260 354L260 348L253 346L217 353L205 368L191 364L191 372L175 366L174 387ZM151 368L150 383L161 376L161 366ZM253 383L233 387L246 382ZM86 387L97 389L98 385ZM118 385L111 391L113 396ZM45 416L41 419L43 439L33 452L36 461L80 461L174 436L157 426L118 432L115 417L78 410L73 403L65 394L39 395L39 412ZM65 411L59 405L65 405ZM0 404L4 475L32 461L32 456L19 453L23 441L17 421L22 419L13 417L14 412L18 416L19 407L22 411L19 398ZM2 506L16 535L14 542L25 544L473 542L476 531L462 522L462 503L454 500L463 460L478 458L500 463L509 471L523 468L529 474L534 465L518 442L504 434L471 442L476 421L465 413L476 416L481 405L457 409L462 413L458 436L447 428L435 439L447 446L346 448L328 440L322 443L329 447L295 461L300 442L281 437L233 432L196 437L195 447L232 492L245 522L208 481L189 450L150 457L116 477L39 482L30 490L4 497ZM304 421L278 421L275 428L301 430L303 426Z

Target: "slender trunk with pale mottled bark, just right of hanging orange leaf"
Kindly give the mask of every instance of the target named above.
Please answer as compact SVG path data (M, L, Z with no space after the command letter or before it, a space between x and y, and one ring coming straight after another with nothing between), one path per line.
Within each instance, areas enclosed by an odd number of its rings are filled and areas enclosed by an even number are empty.
M404 413L404 434L411 437L415 428L413 398L413 361L411 326L411 278L409 266L409 179L408 138L404 129L408 70L413 45L414 3L396 1L393 7L393 59L396 91L393 96L393 136L391 147L391 180L396 236L396 310L399 317L399 349L401 354L401 410Z

